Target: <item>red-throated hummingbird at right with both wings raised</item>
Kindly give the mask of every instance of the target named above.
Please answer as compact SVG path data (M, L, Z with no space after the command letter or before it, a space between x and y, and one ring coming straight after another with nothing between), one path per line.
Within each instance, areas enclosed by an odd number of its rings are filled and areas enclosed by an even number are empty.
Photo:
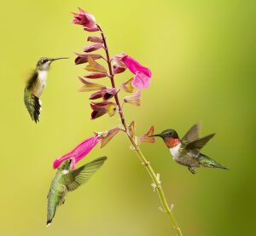
M212 158L200 153L201 148L204 147L215 134L207 135L199 138L199 125L193 125L190 130L180 140L175 130L164 130L158 136L166 143L166 147L170 150L172 158L178 163L188 166L190 172L195 174L197 167L214 167L227 170L226 167L218 164Z

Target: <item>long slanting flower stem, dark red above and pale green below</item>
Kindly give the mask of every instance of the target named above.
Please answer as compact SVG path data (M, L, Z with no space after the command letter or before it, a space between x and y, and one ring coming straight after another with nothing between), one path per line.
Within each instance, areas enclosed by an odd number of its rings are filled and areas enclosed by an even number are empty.
M110 60L110 56L109 56L109 52L108 52L107 40L106 40L106 37L104 35L104 32L102 31L101 26L99 26L99 25L97 25L97 26L98 26L101 34L102 34L102 41L103 41L103 44L104 44L104 49L105 49L105 52L106 52L107 62L108 62L109 78L110 78L112 87L116 88L115 83L114 83L114 79L113 79L114 75L113 75L111 60ZM151 177L151 179L153 181L153 187L154 187L154 189L157 190L157 192L159 194L160 202L161 202L164 210L166 211L166 214L170 217L170 220L172 222L172 227L174 228L174 230L176 231L176 234L178 236L182 236L181 229L178 226L175 217L172 215L172 210L171 210L171 208L169 207L169 204L166 201L166 196L165 196L164 190L161 186L159 174L155 174L153 168L151 167L150 163L148 162L148 159L145 158L145 156L143 155L143 152L141 151L140 147L133 140L133 138L129 135L127 124L126 124L126 121L125 121L124 112L123 112L122 106L120 105L120 102L119 102L118 93L116 95L114 95L114 99L115 99L115 102L116 102L116 104L119 108L119 116L121 118L122 124L124 125L125 133L126 133L128 139L131 141L131 145L134 147L134 150L136 151L138 158L140 159L142 164L145 166L145 168L148 170L148 174L149 174L149 176Z

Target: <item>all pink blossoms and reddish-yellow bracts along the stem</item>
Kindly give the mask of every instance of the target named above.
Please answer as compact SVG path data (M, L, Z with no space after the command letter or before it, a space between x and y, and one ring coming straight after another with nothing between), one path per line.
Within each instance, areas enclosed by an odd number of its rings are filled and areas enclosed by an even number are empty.
M110 58L108 55L108 46L106 43L106 37L104 36L101 27L96 23L96 18L84 11L79 9L79 13L73 13L73 24L83 26L84 31L87 32L100 32L99 36L89 36L87 41L90 45L86 45L83 49L84 53L76 53L77 57L75 59L75 64L85 64L84 69L89 72L84 75L84 77L79 77L83 86L79 89L80 92L91 92L90 94L90 119L100 118L105 114L112 117L116 112L120 112L124 104L131 104L135 106L141 105L141 89L147 89L152 73L150 69L142 66L137 60L132 58L130 55L125 55L121 53L119 55L113 55ZM96 51L105 51L105 55L101 53L96 53ZM106 64L107 67L102 65L102 62ZM125 72L128 69L133 77L120 83L119 88L115 86L114 76ZM107 87L103 83L96 83L96 79L109 78L112 82L112 87ZM120 106L118 101L119 93L123 91L129 93L130 95L125 95L123 97L123 105ZM61 158L57 158L54 161L54 169L58 168L63 161L67 159L72 160L72 168L75 168L75 164L84 158L90 150L96 147L96 144L101 142L101 147L107 145L114 135L119 133L119 126L113 127L113 129L97 132L96 135L86 139L81 142L78 147L75 147L73 151L65 154ZM137 144L145 142L154 142L154 137L149 137L153 135L154 127L137 139ZM129 132L131 139L135 139L135 123L132 122L130 126L125 128Z

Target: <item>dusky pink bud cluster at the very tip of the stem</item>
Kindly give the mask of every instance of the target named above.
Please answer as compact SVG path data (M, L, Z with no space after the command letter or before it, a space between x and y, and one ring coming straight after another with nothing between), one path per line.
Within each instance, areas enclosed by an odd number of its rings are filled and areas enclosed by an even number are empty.
M83 9L79 8L79 13L73 13L73 24L84 26L85 31L95 32L98 31L96 26L96 19L94 15L87 13Z

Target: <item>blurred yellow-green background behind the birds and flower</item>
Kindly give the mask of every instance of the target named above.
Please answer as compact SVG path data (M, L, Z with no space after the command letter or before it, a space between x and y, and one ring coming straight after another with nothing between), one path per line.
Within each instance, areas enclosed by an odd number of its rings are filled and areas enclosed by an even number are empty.
M108 162L67 196L47 228L51 164L118 116L90 121L89 94L77 91L84 66L74 66L89 35L70 24L77 7L96 15L112 55L125 53L152 69L143 106L126 106L137 134L174 128L183 135L201 122L218 135L204 153L230 168L175 164L158 140L142 149L160 172L166 198L184 235L253 235L255 223L255 1L5 1L1 3L1 235L174 235L137 156L120 134L79 164ZM92 34L91 34L92 35ZM23 104L26 79L41 56L55 62L34 124ZM117 83L131 78L126 72Z

